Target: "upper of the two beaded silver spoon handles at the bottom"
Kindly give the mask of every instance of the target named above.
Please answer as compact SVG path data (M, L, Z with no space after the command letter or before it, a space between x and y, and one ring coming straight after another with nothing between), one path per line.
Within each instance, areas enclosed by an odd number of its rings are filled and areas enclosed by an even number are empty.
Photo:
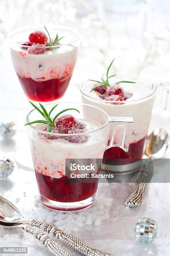
M80 241L75 236L72 236L68 233L65 233L64 231L60 230L59 228L55 228L54 226L51 226L47 223L42 223L37 220L31 220L30 225L32 227L41 228L45 232L52 234L53 236L59 238L60 240L67 243L70 247L75 249L76 251L82 253L83 255L87 256L112 256L110 253L105 253L102 251L98 251L95 248L92 248L85 244L84 242Z

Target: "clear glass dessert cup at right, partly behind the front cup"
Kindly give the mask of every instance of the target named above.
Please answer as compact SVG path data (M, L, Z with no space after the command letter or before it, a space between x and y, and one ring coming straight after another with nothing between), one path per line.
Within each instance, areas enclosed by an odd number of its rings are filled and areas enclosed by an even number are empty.
M98 77L96 80L98 80ZM129 97L127 100L120 102L103 100L95 91L90 92L93 87L93 82L91 81L85 82L80 87L83 103L91 104L101 108L108 115L124 117L132 116L134 118L133 133L128 152L125 152L122 150L122 148L112 147L107 149L104 153L103 168L111 171L113 170L112 165L115 164L115 159L124 159L121 160L122 163L124 162L131 164L142 158L145 138L148 134L148 128L152 115L153 100L156 92L155 85L144 79L136 79L135 77L127 75L117 75L110 79L109 82L111 85L114 85L117 81L127 80L134 81L136 84L120 84L127 95L132 94L130 95L131 97ZM112 123L110 127L108 143L112 139L112 133L114 131L115 124ZM127 171L127 169L125 171Z

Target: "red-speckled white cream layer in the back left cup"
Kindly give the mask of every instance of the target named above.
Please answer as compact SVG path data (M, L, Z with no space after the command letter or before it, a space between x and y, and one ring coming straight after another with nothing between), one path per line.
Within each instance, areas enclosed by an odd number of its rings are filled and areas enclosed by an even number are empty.
M64 46L63 46L64 47ZM62 47L61 47L62 48ZM20 49L11 49L11 56L16 73L23 78L35 81L49 79L67 79L72 74L77 59L77 47L45 51L43 54L29 54Z

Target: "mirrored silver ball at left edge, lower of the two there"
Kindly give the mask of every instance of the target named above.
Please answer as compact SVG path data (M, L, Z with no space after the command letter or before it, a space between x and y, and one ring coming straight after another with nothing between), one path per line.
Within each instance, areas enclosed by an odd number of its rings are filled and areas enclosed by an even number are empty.
M0 179L7 179L7 177L13 172L13 170L13 161L6 157L0 159Z

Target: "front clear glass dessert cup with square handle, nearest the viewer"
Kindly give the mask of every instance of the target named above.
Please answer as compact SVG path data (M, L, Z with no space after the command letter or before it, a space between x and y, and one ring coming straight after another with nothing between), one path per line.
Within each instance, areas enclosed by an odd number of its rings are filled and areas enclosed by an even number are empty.
M53 104L46 105L47 112L53 106ZM42 204L52 210L72 212L92 205L98 178L90 181L85 178L81 180L75 178L74 182L68 182L65 172L66 159L95 161L95 159L102 159L105 149L112 146L120 146L128 151L133 118L111 117L104 110L92 105L63 102L58 103L52 114L55 116L56 111L66 108L75 108L80 111L78 113L70 110L69 114L87 124L84 133L49 133L44 131L44 126L41 126L43 124L27 125L27 128ZM40 113L32 110L26 122L38 119L40 119ZM111 123L115 124L115 133L112 134L112 140L108 140ZM50 137L47 138L47 135Z

